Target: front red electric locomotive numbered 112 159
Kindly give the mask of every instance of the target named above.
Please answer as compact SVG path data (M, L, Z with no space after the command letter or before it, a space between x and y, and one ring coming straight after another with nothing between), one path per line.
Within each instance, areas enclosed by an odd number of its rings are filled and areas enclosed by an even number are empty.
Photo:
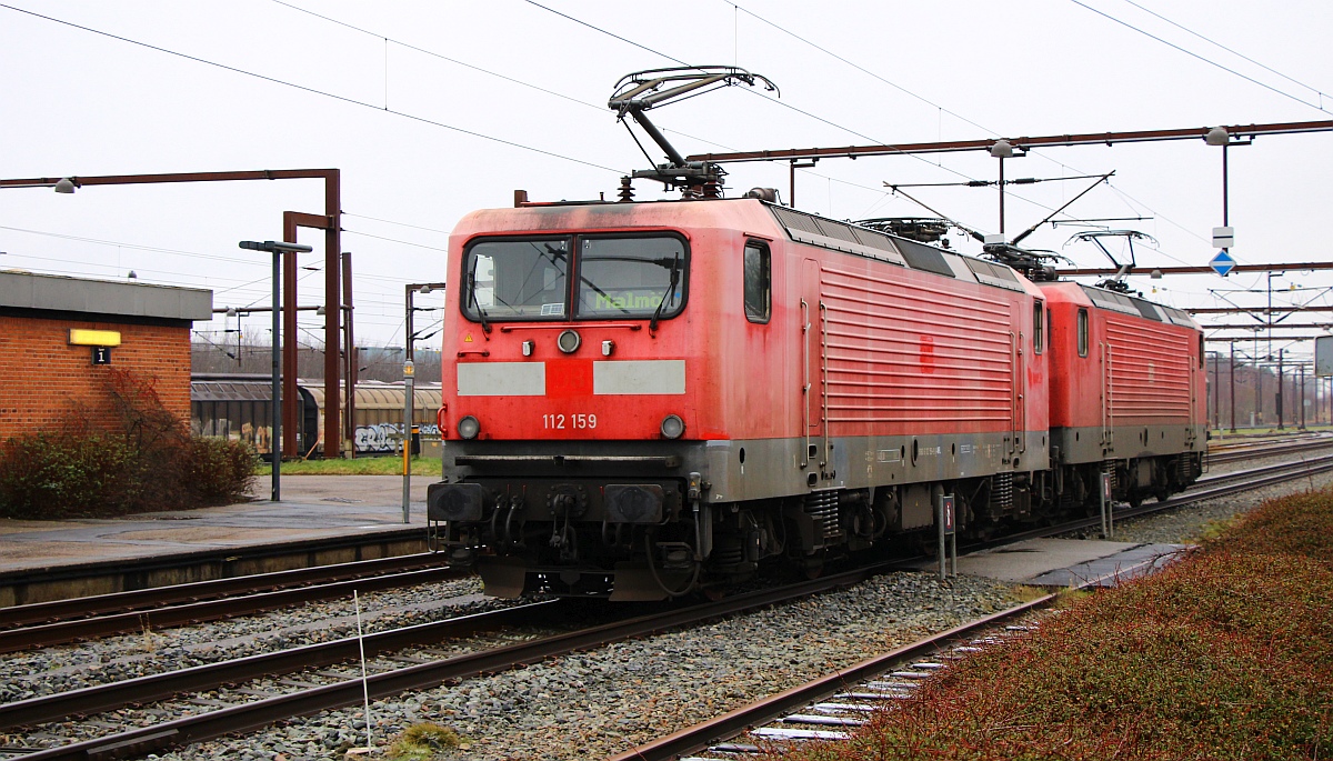
M1049 490L1005 265L736 199L476 212L449 269L429 514L492 594L661 598Z

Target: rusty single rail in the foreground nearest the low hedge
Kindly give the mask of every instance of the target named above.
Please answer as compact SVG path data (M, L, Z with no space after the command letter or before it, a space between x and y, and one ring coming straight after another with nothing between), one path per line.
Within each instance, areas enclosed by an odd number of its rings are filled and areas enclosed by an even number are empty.
M900 661L936 653L952 641L965 637L970 638L977 630L994 626L996 624L1004 621L1010 621L1032 610L1046 608L1054 602L1056 598L1056 594L1046 594L1044 597L1038 597L1037 600L1009 608L1008 610L993 613L985 618L978 618L961 626L954 626L946 632L917 640L916 642L904 645L884 653L882 656L861 661L854 666L836 670L804 685L786 689L750 705L724 713L722 716L696 724L694 726L681 729L680 732L674 732L652 742L647 742L632 750L613 756L609 761L668 761L704 750L714 742L736 737L753 726L773 721L793 709L809 705L852 685L882 674L884 672L890 670Z

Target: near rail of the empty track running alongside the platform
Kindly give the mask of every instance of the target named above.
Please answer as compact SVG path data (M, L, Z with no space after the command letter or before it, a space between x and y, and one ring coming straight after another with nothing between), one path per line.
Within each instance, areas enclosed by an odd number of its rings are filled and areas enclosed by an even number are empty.
M295 589L281 589L245 597L225 597L223 600L208 600L204 602L191 602L173 605L169 608L156 608L131 613L116 613L96 618L80 618L61 621L57 624L44 624L25 626L23 629L9 629L0 632L0 653L12 653L29 648L73 642L92 637L105 637L111 634L127 634L141 632L148 628L163 629L167 626L180 626L184 624L199 624L201 621L216 621L297 605L333 597L349 597L352 592L377 592L381 589L396 589L415 584L429 584L433 581L451 581L463 578L471 572L459 568L427 568L421 570L408 570L404 573L389 573L372 576L368 578L353 578L321 584L316 586L297 586Z

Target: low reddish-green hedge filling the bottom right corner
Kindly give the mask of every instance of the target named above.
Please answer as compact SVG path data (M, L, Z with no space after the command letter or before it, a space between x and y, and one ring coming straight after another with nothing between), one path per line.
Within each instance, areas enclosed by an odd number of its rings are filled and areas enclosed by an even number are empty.
M794 758L1329 758L1330 600L1333 492L1276 500Z

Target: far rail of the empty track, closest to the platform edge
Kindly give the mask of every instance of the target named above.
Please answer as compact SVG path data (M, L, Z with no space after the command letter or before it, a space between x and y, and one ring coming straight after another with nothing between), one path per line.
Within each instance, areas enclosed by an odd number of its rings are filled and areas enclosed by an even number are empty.
M1330 444L1333 445L1333 444ZM253 573L208 581L191 581L171 586L112 592L88 597L71 597L49 602L29 602L3 608L0 630L28 626L33 624L55 624L105 613L127 613L161 608L179 602L200 602L236 594L272 592L288 586L361 578L381 573L397 573L420 568L439 568L441 558L432 553L399 554L375 560L357 560L335 565L315 565L272 573Z

